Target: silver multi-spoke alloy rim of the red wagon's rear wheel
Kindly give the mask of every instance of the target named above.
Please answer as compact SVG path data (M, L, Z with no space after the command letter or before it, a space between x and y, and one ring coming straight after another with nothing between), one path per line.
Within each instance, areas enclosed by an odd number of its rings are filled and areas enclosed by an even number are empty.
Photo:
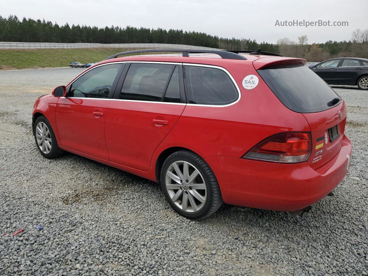
M165 187L170 199L184 212L198 212L206 203L205 181L199 170L186 161L176 161L169 166Z

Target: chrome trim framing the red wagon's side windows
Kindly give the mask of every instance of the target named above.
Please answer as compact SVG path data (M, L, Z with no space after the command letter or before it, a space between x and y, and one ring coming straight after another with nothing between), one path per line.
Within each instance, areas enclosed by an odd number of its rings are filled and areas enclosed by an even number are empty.
M203 106L203 107L227 107L227 106L231 106L236 104L237 102L239 102L240 98L241 98L241 92L240 92L240 88L237 84L237 82L235 81L235 79L233 78L233 76L230 74L229 71L227 71L224 67L220 67L220 66L215 66L215 65L207 65L207 64L199 64L199 63L180 63L180 62L169 62L169 61L112 61L109 63L103 63L94 67L89 67L90 69L86 70L85 72L83 72L81 75L79 75L77 78L75 78L68 86L67 86L67 91L70 88L70 86L80 77L82 77L82 75L86 74L87 72L89 72L90 70L93 70L94 68L100 67L100 66L105 66L105 65L109 65L109 64L117 64L117 63L125 63L124 66L121 67L120 71L120 75L119 72L116 75L116 78L114 80L114 82L118 79L117 81L117 85L114 87L114 94L112 96L110 96L108 98L77 98L77 97L70 97L70 99L91 99L91 100L120 100L120 101L125 101L125 102L141 102L141 103L161 103L161 104L166 104L166 105L188 105L188 106ZM121 89L121 87L123 86L123 82L125 80L125 77L127 75L129 66L131 63L156 63L156 64L172 64L172 65L178 65L179 66L179 86L180 86L180 98L181 98L181 103L170 103L170 102L151 102L151 101L145 101L145 100L123 100L123 99L119 99L118 98L118 92L119 91L119 87ZM184 72L184 66L198 66L198 67L208 67L208 68L215 68L215 69L219 69L224 71L229 78L231 79L231 81L233 81L233 84L238 92L238 99L232 103L229 103L227 105L198 105L195 103L188 103L187 100L187 96L186 96L186 84L185 84L185 72ZM181 77L183 76L183 77ZM116 98L117 97L117 98ZM69 99L69 97L60 97L60 98L67 98Z

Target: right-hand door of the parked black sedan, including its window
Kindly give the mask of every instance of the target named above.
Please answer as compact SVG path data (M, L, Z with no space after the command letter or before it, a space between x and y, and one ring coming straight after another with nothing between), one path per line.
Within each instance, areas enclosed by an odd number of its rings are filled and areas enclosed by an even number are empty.
M336 68L336 77L341 84L357 85L358 77L364 71L363 64L356 59L343 59L342 64Z

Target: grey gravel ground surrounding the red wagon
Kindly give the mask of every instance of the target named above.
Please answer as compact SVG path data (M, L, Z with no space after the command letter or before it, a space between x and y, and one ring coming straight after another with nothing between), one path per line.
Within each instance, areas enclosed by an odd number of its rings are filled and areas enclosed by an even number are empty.
M79 71L0 71L0 275L368 274L368 92L334 87L353 143L334 197L303 217L223 205L191 221L159 184L71 153L40 155L32 105Z

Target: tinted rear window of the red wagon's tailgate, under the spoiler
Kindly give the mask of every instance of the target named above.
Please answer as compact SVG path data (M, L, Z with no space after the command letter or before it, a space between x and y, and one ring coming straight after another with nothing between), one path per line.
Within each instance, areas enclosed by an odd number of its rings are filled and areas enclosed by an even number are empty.
M340 103L331 103L339 95L307 66L283 65L257 72L277 98L295 112L320 112Z

